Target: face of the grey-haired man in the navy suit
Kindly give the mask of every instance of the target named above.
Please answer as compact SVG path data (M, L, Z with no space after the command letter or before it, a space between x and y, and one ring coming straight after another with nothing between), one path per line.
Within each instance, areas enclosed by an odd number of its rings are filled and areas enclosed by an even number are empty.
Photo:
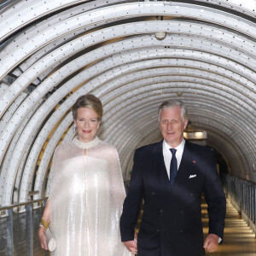
M179 107L166 108L160 111L160 130L166 143L176 148L183 141L183 131L188 119L183 122Z

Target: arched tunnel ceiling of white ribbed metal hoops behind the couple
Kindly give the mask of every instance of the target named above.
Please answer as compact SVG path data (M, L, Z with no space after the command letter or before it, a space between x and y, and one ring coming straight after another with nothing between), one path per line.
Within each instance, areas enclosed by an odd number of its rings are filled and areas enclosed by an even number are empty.
M157 108L187 105L196 130L255 182L256 1L0 3L0 205L48 193L71 107L93 93L99 137L118 148L125 179L135 148L160 140Z

